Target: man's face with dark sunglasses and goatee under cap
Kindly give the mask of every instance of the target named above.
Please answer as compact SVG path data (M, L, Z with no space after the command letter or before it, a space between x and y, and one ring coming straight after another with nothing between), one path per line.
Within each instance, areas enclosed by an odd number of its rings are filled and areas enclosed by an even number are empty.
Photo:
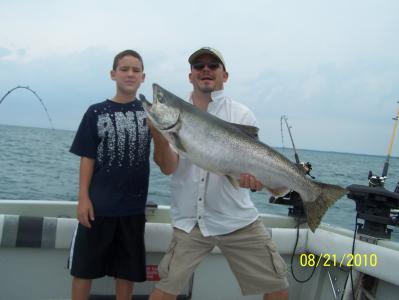
M228 73L218 59L210 54L199 56L191 65L191 73L188 75L194 90L202 93L211 93L223 89L223 83L227 81Z

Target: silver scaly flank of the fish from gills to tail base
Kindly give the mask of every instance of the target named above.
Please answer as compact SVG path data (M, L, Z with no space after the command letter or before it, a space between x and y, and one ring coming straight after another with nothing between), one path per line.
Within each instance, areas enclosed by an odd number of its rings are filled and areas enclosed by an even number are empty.
M284 156L233 126L215 124L218 121L204 122L183 112L178 136L186 152L181 154L217 174L238 179L241 173L250 173L269 189L292 187L306 194L313 190L312 182ZM301 185L296 184L298 181Z

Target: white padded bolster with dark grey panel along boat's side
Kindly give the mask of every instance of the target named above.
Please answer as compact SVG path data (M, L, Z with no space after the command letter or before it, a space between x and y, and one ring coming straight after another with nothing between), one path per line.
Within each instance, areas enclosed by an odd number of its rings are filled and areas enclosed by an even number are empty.
M0 214L0 247L69 249L78 221L72 218L30 217ZM172 238L172 226L146 224L148 252L165 252Z

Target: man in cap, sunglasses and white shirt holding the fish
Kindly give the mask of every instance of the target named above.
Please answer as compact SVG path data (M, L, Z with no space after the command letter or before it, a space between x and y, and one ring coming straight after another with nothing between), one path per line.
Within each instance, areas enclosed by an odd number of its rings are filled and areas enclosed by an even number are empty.
M248 108L224 95L228 73L217 50L201 48L188 61L193 105L231 123L256 125ZM195 268L215 246L229 262L244 295L288 299L286 265L249 197L248 188L260 190L261 183L249 174L242 174L242 188L236 189L225 176L209 173L179 157L155 128L151 130L154 160L164 174L173 174L174 232L159 265L161 280L150 300L176 299Z

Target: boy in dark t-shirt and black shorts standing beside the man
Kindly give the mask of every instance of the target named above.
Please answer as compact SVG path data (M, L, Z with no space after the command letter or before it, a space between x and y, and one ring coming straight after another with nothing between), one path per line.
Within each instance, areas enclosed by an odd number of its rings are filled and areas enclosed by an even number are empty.
M117 299L131 299L133 282L146 280L145 204L151 136L136 93L144 82L139 53L114 58L112 99L85 113L70 151L81 157L79 225L69 267L72 299L88 299L92 279L113 276Z

